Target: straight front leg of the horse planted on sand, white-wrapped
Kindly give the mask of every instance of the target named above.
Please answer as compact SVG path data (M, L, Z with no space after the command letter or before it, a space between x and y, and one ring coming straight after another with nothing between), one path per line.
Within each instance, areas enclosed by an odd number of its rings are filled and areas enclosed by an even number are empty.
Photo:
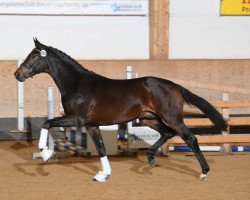
M106 155L106 149L103 143L103 139L101 136L101 131L99 127L86 127L87 131L90 134L90 137L92 138L96 150L100 156L101 163L102 163L102 171L99 171L95 176L94 176L94 181L99 181L99 182L105 182L106 179L110 176L111 174L111 167Z

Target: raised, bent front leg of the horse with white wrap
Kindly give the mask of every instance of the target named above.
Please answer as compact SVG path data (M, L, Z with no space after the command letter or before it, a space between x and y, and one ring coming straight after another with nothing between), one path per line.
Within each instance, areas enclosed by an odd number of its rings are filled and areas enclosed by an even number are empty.
M76 120L73 117L63 116L47 120L41 129L38 148L41 150L41 156L44 161L47 161L53 154L52 150L48 149L47 139L49 129L52 127L72 127L77 126Z

